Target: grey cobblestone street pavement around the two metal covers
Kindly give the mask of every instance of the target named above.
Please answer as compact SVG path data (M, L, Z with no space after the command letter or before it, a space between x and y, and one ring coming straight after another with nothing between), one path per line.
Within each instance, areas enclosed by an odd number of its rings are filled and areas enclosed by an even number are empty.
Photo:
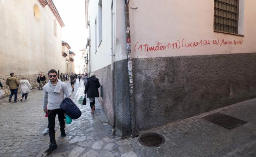
M67 83L69 85L69 83ZM72 98L75 103L84 94L77 82ZM70 85L69 85L70 86ZM71 91L71 87L70 87ZM0 100L0 157L44 157L49 144L42 135L47 126L41 109L43 91L32 91L27 102L4 103ZM188 119L140 132L156 132L165 137L160 147L149 148L137 138L113 137L101 105L91 115L87 105L79 119L66 124L67 136L60 137L56 119L58 148L49 157L256 157L256 99L203 113ZM228 130L201 117L220 112L247 121L247 124Z

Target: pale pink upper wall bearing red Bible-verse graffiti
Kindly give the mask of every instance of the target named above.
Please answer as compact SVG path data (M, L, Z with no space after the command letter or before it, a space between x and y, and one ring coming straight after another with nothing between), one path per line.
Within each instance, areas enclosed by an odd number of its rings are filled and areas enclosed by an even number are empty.
M181 56L181 55L210 55L226 53L256 52L256 1L247 0L240 9L244 9L243 30L238 35L216 33L213 30L214 0L130 0L130 33L131 47L134 58ZM242 11L240 12L240 14ZM240 15L240 18L242 15ZM240 19L240 22L242 20ZM241 25L241 24L240 24ZM240 26L241 27L241 26ZM237 45L213 44L221 39L234 42L242 41ZM185 47L184 42L200 42L209 40L210 44L194 47ZM182 43L180 46L179 42ZM167 46L168 43L177 43L178 48L161 51L147 51L147 45ZM137 44L137 45L136 45ZM142 51L138 50L142 45ZM146 51L144 51L146 45ZM135 52L136 50L136 52Z

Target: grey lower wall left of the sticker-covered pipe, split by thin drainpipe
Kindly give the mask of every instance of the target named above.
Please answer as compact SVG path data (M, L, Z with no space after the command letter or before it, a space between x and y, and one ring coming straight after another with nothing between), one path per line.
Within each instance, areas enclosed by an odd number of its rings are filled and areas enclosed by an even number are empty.
M116 135L125 137L131 134L130 122L130 98L128 84L127 61L121 60L114 64L115 72L115 98L114 111L112 110L112 78L111 65L94 71L100 84L103 86L103 98L100 98L101 106L107 115L110 124L115 125ZM115 114L115 122L112 121L112 113Z

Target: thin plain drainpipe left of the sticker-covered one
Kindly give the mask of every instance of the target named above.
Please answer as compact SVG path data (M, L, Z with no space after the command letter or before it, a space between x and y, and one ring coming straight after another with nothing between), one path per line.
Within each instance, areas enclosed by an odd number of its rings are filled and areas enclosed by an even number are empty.
M113 12L113 5L114 2L112 0L112 4L111 4L111 76L112 76L112 135L115 135L115 110L114 110L114 95L115 95L115 91L114 91L114 83L115 83L115 78L114 78L114 72L115 72L115 68L114 68L114 12Z

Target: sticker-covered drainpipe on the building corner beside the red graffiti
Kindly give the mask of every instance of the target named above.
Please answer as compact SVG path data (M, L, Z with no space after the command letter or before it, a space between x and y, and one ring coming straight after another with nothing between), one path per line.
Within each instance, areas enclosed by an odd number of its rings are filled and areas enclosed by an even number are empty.
M131 112L131 126L132 137L136 137L136 121L135 121L135 106L133 93L133 62L131 56L130 43L130 19L129 19L129 5L128 0L125 0L125 24L126 24L126 50L127 50L127 64L128 64L128 79L129 79L129 94L130 94L130 112Z

